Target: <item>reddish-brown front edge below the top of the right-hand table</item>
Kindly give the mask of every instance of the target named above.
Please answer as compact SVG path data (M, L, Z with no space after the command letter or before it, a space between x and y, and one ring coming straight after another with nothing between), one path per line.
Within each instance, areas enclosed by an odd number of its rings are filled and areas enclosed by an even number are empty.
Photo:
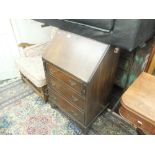
M121 108L119 109L119 113L137 128L149 132L150 134L155 134L155 125L148 122L146 119L143 119L142 117L134 114L123 106L121 106Z

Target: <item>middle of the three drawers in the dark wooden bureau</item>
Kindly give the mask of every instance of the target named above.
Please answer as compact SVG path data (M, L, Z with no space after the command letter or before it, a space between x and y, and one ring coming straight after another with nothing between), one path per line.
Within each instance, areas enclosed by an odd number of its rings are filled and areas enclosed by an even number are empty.
M48 87L54 89L57 92L60 92L72 104L78 108L84 109L85 99L80 97L75 91L70 89L70 87L67 87L67 85L52 76L48 76L47 83Z

